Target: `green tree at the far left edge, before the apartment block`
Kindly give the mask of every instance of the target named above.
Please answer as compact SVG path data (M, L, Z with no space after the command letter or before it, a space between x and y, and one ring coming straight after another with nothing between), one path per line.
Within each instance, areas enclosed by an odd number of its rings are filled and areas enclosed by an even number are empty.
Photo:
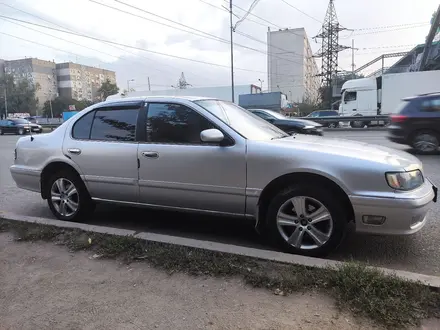
M14 81L14 77L5 74L0 78L0 114L6 114L5 88L8 113L27 112L32 115L36 113L38 99L35 96L39 84L34 85L30 80L22 79Z

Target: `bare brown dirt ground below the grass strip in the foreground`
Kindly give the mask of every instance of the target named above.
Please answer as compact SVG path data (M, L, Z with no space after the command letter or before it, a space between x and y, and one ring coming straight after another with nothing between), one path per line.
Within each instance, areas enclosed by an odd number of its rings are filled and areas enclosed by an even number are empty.
M7 233L0 264L2 329L378 328L314 292L282 296L234 278L169 275Z

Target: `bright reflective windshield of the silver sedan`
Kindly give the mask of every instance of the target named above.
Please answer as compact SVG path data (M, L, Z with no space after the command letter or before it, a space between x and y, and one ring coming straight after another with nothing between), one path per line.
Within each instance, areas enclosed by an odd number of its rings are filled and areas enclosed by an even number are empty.
M234 103L219 100L200 100L194 103L217 116L246 139L273 140L289 136L276 126Z

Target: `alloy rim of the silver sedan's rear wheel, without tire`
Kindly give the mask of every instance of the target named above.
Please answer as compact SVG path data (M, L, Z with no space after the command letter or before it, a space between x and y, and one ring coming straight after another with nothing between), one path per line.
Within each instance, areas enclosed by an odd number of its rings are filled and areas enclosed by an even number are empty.
M78 211L78 190L70 180L57 179L51 187L50 198L55 210L64 217L70 217Z

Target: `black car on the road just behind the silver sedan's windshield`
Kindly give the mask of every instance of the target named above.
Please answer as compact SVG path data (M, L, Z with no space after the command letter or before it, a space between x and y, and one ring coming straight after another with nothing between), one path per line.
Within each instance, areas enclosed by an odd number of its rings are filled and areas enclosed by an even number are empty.
M249 111L288 134L323 135L322 125L314 121L289 118L279 112L266 109L249 109Z

